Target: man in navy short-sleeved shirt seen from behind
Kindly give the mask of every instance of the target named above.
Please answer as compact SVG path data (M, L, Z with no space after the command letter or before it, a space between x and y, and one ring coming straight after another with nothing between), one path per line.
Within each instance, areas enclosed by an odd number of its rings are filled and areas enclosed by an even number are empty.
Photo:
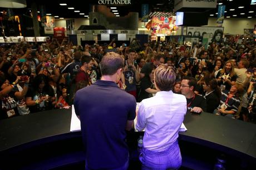
M86 169L127 169L125 142L135 118L136 99L117 86L124 59L109 52L100 63L102 77L75 95L75 111L81 121Z

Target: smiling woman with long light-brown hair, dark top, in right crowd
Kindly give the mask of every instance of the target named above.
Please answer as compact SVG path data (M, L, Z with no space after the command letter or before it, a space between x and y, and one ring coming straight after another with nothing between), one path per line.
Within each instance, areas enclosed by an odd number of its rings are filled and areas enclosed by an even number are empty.
M234 71L234 62L231 60L225 62L223 69L219 71L216 77L218 78L218 85L221 90L227 89L229 91L237 80L237 75Z

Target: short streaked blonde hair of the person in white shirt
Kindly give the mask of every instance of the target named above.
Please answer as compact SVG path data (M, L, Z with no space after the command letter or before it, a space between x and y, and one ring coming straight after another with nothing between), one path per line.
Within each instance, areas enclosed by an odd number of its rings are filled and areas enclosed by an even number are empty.
M170 91L174 87L176 70L173 66L161 64L155 69L154 77L156 86L161 91Z

